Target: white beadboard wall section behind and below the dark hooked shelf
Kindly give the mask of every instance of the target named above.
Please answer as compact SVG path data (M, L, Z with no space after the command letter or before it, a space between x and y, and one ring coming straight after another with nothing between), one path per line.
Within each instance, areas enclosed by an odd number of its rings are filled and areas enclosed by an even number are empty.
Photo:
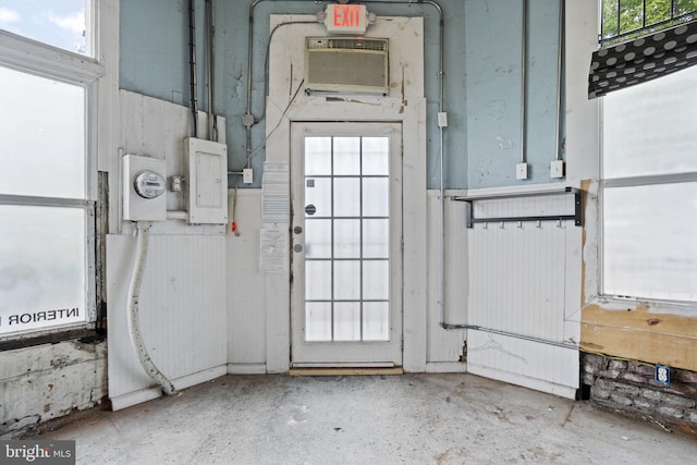
M573 213L573 196L474 203L475 217ZM573 221L477 223L468 230L468 323L552 342L567 342L568 241ZM511 374L576 388L573 348L470 330L468 369Z

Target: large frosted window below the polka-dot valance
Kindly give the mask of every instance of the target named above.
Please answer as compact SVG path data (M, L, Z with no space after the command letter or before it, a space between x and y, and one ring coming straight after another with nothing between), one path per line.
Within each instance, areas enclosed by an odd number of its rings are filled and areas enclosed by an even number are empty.
M697 66L603 98L603 292L697 301Z

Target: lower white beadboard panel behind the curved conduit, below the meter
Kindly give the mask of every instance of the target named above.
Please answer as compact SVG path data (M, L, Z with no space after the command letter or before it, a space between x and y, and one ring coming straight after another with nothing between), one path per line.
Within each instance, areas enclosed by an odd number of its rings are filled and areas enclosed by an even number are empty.
M109 396L154 382L131 345L126 296L136 238L108 236ZM139 299L140 329L155 365L176 379L227 362L224 237L151 235Z

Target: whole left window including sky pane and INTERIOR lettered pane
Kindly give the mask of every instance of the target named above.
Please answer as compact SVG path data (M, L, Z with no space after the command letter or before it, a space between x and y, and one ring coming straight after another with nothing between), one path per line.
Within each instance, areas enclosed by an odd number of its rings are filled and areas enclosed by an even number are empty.
M96 319L94 122L102 66L81 56L91 49L91 4L0 0L2 341L86 329Z

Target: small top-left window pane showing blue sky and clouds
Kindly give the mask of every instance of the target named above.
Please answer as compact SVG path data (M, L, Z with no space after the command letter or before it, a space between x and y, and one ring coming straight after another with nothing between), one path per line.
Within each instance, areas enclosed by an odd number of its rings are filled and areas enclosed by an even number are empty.
M85 53L85 0L2 0L0 29Z

